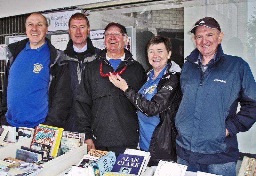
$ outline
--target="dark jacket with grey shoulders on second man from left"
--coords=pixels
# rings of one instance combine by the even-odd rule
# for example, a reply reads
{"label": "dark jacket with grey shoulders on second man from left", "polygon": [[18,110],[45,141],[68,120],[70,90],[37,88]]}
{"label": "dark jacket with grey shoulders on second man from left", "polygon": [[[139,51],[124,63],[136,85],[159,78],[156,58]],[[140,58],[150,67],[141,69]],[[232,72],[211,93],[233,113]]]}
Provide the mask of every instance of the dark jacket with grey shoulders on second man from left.
{"label": "dark jacket with grey shoulders on second man from left", "polygon": [[92,46],[92,41],[89,37],[86,39],[87,41],[87,52],[84,55],[84,60],[78,60],[76,56],[76,52],[73,48],[73,41],[70,39],[67,45],[67,49],[64,51],[66,54],[66,60],[68,62],[68,72],[70,76],[71,82],[71,90],[72,90],[72,107],[70,108],[68,119],[64,123],[64,128],[66,131],[77,132],[77,128],[75,125],[75,99],[78,91],[79,84],[81,82],[81,77],[84,69],[89,62],[95,60],[97,55],[100,54],[101,50]]}

